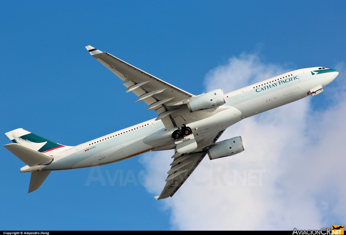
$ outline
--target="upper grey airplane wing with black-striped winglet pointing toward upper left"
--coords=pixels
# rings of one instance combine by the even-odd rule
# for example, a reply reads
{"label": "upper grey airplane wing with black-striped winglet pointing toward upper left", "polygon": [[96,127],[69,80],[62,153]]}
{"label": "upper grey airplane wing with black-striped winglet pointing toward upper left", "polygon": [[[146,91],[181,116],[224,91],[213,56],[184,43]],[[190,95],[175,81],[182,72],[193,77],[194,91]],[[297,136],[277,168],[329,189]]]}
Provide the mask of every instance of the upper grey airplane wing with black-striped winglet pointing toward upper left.
{"label": "upper grey airplane wing with black-striped winglet pointing toward upper left", "polygon": [[177,107],[169,107],[166,104],[181,103],[182,105],[182,101],[192,97],[192,94],[174,87],[107,52],[101,52],[92,46],[86,46],[86,49],[96,60],[124,81],[127,88],[126,93],[130,91],[135,93],[138,96],[136,102],[143,100],[149,106],[147,110],[154,109],[157,112],[158,119],[162,120],[167,130],[173,128],[174,125],[170,121],[169,115],[176,111]]}

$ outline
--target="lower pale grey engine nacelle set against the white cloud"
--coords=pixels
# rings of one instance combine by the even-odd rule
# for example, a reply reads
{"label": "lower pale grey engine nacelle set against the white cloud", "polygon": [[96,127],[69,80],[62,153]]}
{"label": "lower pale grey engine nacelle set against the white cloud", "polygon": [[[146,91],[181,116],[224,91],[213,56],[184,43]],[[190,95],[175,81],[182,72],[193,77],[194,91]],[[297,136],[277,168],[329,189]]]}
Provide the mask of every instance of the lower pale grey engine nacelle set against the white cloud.
{"label": "lower pale grey engine nacelle set against the white cloud", "polygon": [[210,148],[207,153],[209,159],[218,159],[220,157],[232,156],[245,150],[241,136],[220,141],[214,147]]}

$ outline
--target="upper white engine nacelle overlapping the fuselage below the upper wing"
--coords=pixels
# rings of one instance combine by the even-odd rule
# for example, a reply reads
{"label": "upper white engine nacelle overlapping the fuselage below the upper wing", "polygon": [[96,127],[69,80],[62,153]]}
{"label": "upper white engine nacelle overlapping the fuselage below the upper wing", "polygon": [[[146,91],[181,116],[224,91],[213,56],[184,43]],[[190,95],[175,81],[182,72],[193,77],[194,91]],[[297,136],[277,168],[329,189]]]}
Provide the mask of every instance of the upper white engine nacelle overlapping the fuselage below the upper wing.
{"label": "upper white engine nacelle overlapping the fuselage below the upper wing", "polygon": [[195,112],[203,109],[212,109],[226,103],[224,90],[217,89],[201,94],[194,100],[188,103],[190,112]]}

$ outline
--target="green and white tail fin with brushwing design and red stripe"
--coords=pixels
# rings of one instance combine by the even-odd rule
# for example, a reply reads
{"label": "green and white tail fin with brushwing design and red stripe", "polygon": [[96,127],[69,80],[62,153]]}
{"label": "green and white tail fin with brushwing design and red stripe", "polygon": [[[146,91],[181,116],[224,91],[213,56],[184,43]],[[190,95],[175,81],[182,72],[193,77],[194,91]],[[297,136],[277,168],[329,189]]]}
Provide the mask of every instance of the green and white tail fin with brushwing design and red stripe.
{"label": "green and white tail fin with brushwing design and red stripe", "polygon": [[40,153],[46,153],[64,147],[64,145],[57,144],[22,128],[11,130],[10,132],[5,133],[5,135],[7,135],[13,143],[20,144]]}

